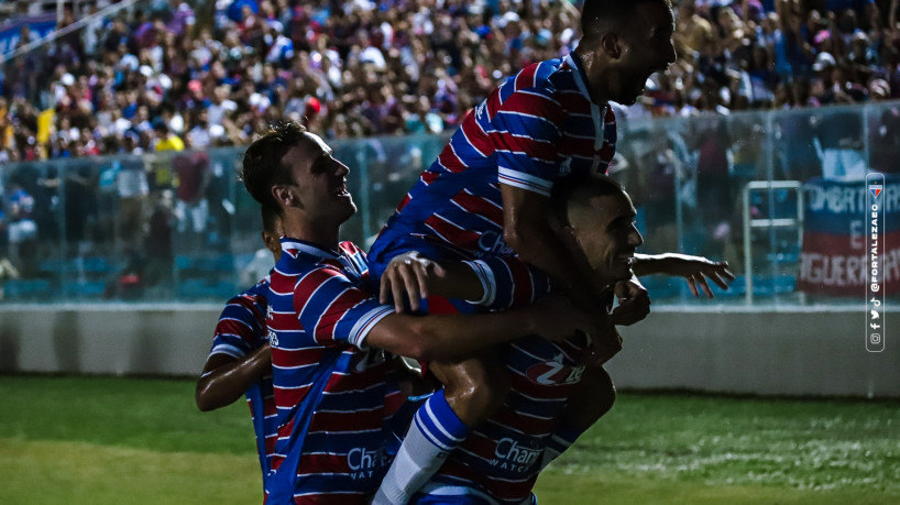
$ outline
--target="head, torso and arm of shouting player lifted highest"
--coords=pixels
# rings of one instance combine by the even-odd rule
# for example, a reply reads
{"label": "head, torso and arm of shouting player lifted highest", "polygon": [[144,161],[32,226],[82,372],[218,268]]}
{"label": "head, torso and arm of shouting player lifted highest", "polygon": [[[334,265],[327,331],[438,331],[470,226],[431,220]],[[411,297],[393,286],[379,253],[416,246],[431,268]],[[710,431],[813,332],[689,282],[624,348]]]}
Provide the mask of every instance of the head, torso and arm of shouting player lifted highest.
{"label": "head, torso and arm of shouting player lifted highest", "polygon": [[670,9],[668,0],[588,0],[573,53],[529,65],[463,119],[373,244],[374,273],[409,249],[436,260],[515,254],[592,305],[549,226],[550,191],[562,176],[605,173],[616,145],[608,102],[634,103],[674,62]]}

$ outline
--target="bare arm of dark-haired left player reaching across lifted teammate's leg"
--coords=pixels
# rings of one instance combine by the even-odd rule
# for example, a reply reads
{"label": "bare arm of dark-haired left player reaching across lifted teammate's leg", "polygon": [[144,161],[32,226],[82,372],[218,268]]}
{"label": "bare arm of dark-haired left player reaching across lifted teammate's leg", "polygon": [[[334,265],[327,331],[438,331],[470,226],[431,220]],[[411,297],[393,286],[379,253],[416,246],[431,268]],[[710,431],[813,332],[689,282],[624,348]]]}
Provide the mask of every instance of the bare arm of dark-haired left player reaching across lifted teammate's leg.
{"label": "bare arm of dark-haired left player reaching across lifted teammate's leg", "polygon": [[561,296],[529,307],[483,315],[407,316],[392,314],[375,325],[366,343],[422,361],[454,361],[498,343],[538,334],[562,340],[577,331],[591,334],[592,318]]}

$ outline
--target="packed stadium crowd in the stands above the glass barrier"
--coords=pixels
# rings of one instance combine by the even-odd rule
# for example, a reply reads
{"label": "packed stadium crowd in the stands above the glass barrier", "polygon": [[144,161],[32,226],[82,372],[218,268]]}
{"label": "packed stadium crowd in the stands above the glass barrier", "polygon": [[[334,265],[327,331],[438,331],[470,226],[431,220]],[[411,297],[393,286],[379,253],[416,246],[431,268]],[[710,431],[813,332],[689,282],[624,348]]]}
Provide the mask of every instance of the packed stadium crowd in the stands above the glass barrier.
{"label": "packed stadium crowd in the stands above the glass barrier", "polygon": [[[898,3],[676,2],[678,62],[629,114],[898,98]],[[331,139],[439,133],[579,37],[567,0],[138,6],[4,64],[0,163],[242,145],[282,118]]]}

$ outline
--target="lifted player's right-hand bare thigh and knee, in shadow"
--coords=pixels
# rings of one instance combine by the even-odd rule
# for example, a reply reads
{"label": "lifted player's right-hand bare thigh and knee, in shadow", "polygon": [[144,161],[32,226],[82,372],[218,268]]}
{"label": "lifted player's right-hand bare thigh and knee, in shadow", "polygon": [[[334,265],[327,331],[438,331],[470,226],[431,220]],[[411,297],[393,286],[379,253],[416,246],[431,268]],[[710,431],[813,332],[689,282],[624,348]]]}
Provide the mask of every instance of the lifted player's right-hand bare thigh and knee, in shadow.
{"label": "lifted player's right-hand bare thigh and knee, in shadow", "polygon": [[613,408],[616,388],[610,374],[601,366],[589,366],[578,388],[569,397],[556,429],[544,449],[540,468],[544,470],[564,452],[603,415]]}

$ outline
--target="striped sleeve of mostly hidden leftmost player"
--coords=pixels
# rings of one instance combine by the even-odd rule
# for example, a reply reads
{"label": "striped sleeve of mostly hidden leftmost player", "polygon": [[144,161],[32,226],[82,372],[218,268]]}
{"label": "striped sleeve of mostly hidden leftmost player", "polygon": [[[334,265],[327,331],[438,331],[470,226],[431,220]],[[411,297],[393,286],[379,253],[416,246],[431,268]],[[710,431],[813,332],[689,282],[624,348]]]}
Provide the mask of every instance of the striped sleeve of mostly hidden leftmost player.
{"label": "striped sleeve of mostly hidden leftmost player", "polygon": [[209,355],[228,354],[241,359],[262,345],[267,337],[263,305],[259,296],[250,294],[228,300],[216,323]]}

